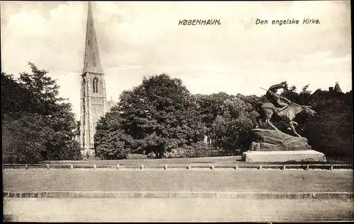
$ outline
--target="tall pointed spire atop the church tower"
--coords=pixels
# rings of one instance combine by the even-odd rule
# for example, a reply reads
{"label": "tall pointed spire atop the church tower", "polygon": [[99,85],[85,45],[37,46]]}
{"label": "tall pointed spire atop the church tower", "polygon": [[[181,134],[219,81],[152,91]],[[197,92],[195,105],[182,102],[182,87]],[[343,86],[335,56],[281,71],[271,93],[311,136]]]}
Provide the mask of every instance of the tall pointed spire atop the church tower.
{"label": "tall pointed spire atop the church tower", "polygon": [[91,8],[90,1],[89,1],[89,9],[87,12],[85,57],[84,57],[84,69],[82,69],[82,74],[86,72],[103,73],[100,54],[98,52],[96,30],[95,30],[95,24],[93,23],[92,8]]}

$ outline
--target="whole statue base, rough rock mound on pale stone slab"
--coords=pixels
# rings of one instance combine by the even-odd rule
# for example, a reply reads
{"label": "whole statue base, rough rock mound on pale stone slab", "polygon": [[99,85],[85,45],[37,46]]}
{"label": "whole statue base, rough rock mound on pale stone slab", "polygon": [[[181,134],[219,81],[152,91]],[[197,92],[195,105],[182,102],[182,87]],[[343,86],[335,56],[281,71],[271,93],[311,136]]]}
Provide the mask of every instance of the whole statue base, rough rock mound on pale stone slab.
{"label": "whole statue base, rough rock mound on pale stone slab", "polygon": [[324,153],[311,149],[307,138],[290,136],[282,131],[253,129],[249,146],[241,160],[255,162],[326,162]]}

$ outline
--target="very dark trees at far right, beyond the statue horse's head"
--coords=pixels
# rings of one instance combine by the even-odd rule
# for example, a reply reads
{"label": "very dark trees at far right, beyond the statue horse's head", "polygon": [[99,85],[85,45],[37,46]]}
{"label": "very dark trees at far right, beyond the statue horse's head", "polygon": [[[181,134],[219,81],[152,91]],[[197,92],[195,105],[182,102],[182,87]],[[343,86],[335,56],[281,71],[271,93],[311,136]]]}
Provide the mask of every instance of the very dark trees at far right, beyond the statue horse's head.
{"label": "very dark trees at far right, beyond the statue horse's head", "polygon": [[351,93],[316,90],[309,103],[317,112],[304,124],[302,135],[317,151],[350,158],[353,153],[352,109],[347,99]]}

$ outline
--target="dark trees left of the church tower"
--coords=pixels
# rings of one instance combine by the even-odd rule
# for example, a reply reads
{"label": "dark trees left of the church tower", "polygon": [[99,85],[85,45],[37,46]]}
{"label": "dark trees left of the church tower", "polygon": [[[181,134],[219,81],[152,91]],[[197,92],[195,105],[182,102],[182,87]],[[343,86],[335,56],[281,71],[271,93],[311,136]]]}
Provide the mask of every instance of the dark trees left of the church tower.
{"label": "dark trees left of the church tower", "polygon": [[47,71],[29,65],[17,80],[1,72],[3,163],[81,159],[72,106]]}

